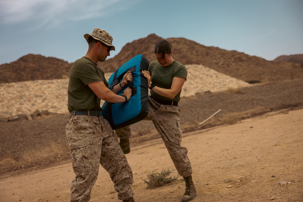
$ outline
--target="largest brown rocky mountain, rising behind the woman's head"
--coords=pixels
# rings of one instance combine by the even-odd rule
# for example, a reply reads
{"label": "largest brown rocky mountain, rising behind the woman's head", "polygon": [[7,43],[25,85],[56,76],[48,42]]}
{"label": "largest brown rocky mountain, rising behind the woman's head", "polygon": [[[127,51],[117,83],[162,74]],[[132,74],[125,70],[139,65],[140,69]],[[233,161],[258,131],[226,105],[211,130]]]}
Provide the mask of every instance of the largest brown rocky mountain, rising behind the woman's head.
{"label": "largest brown rocky mountain, rising behind the woman's head", "polygon": [[[132,57],[143,54],[155,60],[155,43],[163,39],[155,34],[126,44],[114,58],[98,64],[108,72],[115,71]],[[182,64],[201,64],[243,81],[272,83],[303,78],[303,65],[291,62],[273,62],[238,51],[209,47],[186,38],[167,38],[172,45],[173,58]]]}

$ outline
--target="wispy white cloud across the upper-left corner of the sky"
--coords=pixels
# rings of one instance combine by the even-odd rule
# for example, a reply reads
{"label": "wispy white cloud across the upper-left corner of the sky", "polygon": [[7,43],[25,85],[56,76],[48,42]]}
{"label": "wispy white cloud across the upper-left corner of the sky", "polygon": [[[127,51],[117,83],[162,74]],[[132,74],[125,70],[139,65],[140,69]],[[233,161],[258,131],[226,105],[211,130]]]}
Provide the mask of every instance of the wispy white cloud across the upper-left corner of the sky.
{"label": "wispy white cloud across the upper-left corner of the sky", "polygon": [[[126,9],[123,0],[1,0],[0,23],[39,22],[57,24],[111,14],[113,9]],[[115,5],[119,5],[116,7]]]}

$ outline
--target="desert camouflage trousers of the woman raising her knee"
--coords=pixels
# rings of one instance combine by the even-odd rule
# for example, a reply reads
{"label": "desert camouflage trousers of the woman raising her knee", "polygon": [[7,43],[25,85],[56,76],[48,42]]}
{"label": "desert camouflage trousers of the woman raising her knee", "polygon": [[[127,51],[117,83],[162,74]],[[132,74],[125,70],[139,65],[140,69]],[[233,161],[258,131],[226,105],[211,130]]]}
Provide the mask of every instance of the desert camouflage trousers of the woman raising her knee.
{"label": "desert camouflage trousers of the woman raising her knee", "polygon": [[[167,151],[173,161],[176,170],[182,177],[192,174],[191,163],[187,156],[187,148],[181,146],[182,132],[180,128],[180,108],[159,104],[152,98],[148,98],[148,115],[144,120],[152,121],[161,135]],[[121,139],[131,136],[130,126],[116,130],[116,134]]]}

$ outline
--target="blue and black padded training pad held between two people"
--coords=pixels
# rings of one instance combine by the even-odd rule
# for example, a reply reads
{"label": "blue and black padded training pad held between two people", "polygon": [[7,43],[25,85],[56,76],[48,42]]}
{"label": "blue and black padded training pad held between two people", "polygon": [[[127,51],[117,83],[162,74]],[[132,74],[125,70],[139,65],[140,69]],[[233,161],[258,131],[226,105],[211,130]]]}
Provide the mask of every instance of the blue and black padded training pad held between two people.
{"label": "blue and black padded training pad held between two people", "polygon": [[[144,119],[148,114],[148,83],[142,70],[148,70],[149,61],[144,55],[137,55],[119,67],[108,79],[112,86],[122,81],[126,72],[131,71],[133,82],[126,87],[132,88],[132,97],[125,104],[105,101],[102,105],[101,115],[109,122],[112,129],[118,129]],[[124,89],[118,94],[122,95]]]}

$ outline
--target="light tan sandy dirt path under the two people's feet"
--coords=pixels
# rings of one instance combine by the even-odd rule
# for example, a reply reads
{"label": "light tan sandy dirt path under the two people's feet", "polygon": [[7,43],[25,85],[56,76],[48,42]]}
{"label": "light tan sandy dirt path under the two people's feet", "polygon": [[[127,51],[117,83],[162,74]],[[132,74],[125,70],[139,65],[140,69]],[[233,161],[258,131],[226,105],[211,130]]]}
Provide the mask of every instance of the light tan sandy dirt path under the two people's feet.
{"label": "light tan sandy dirt path under the two people's feet", "polygon": [[[303,201],[303,110],[265,114],[241,123],[195,131],[182,140],[202,201]],[[162,141],[132,148],[135,201],[181,201],[181,180],[146,189],[152,171],[175,167]],[[176,171],[172,174],[177,175]],[[75,174],[71,163],[0,180],[1,202],[69,201]],[[181,179],[181,177],[179,177]],[[100,168],[91,201],[119,201],[108,174]]]}

